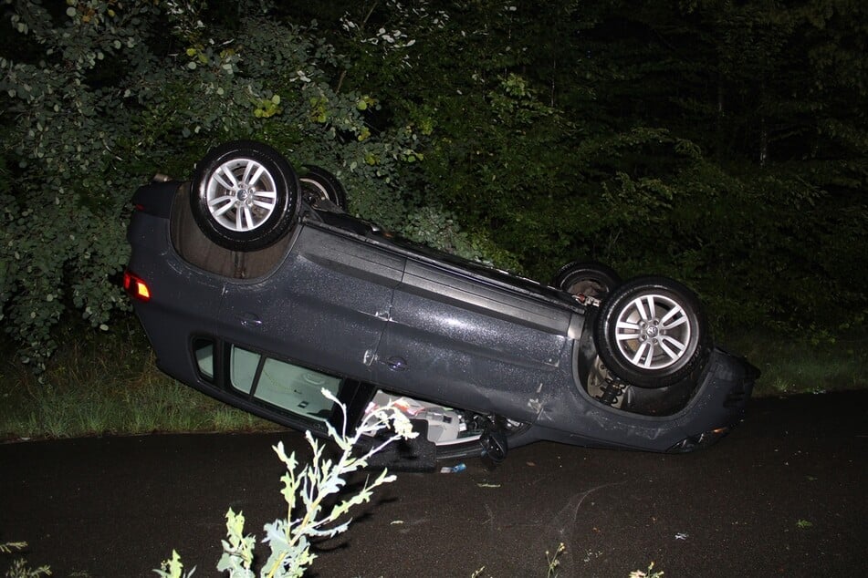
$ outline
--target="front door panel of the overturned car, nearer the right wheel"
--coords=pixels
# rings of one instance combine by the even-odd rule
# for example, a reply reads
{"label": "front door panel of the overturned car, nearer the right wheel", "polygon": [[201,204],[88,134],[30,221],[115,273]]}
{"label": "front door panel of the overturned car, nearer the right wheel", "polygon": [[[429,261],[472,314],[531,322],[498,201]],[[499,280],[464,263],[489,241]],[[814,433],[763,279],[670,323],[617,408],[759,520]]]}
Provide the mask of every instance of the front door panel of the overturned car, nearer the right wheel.
{"label": "front door panel of the overturned car, nearer the right wheel", "polygon": [[531,420],[540,407],[533,400],[562,381],[570,320],[532,295],[408,258],[377,378],[446,405]]}

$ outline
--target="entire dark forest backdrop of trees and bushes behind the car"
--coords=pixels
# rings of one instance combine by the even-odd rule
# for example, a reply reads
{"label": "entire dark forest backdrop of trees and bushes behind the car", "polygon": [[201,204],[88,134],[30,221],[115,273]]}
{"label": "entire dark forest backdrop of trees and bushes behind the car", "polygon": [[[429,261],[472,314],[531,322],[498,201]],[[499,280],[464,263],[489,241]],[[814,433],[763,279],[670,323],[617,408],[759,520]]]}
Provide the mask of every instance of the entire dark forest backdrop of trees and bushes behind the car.
{"label": "entire dark forest backdrop of trees and bushes behind the car", "polygon": [[718,332],[831,342],[868,311],[858,0],[0,5],[0,319],[128,315],[129,200],[254,138],[350,210],[549,280],[666,274]]}

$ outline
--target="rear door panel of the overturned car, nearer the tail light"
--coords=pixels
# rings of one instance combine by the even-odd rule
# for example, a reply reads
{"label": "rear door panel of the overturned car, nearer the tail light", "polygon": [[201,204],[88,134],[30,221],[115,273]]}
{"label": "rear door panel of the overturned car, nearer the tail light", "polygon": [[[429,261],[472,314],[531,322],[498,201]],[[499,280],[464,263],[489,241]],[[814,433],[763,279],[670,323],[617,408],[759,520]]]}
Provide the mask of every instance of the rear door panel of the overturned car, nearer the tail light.
{"label": "rear door panel of the overturned car, nearer the tail light", "polygon": [[402,274],[402,257],[361,235],[302,224],[274,272],[226,281],[220,333],[246,349],[367,381]]}

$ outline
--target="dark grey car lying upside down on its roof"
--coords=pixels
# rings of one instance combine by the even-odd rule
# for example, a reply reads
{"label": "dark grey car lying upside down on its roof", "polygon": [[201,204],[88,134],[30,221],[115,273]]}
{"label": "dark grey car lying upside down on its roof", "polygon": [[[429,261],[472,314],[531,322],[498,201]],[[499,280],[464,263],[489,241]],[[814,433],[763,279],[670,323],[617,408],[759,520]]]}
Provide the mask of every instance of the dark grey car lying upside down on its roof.
{"label": "dark grey car lying upside down on its roof", "polygon": [[355,423],[398,399],[424,434],[408,451],[438,459],[683,452],[743,417],[758,371],[682,284],[598,263],[539,284],[395,239],[328,171],[299,173],[235,141],[136,191],[124,285],[170,376],[319,435],[342,418],[323,388]]}

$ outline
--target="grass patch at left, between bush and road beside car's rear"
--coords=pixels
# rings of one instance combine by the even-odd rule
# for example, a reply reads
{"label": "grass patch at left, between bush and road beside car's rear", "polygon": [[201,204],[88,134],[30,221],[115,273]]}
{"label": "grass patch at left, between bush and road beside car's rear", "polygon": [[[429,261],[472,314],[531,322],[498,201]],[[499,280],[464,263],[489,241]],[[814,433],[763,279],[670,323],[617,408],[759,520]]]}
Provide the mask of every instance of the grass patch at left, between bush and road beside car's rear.
{"label": "grass patch at left, between bush and road beside car's rear", "polygon": [[0,439],[279,429],[163,375],[138,325],[65,337],[39,377],[5,347]]}

